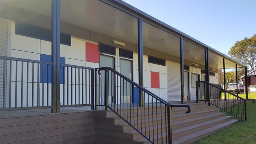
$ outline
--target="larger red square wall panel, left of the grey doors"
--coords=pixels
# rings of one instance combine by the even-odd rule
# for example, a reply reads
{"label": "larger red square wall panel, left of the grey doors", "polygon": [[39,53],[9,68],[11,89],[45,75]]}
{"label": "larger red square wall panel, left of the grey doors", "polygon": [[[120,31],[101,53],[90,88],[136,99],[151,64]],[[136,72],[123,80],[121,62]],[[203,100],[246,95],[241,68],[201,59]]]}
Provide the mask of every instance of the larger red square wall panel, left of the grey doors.
{"label": "larger red square wall panel, left of the grey doors", "polygon": [[85,42],[85,61],[99,63],[98,44]]}

